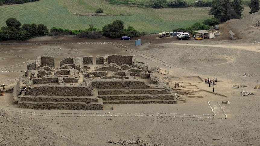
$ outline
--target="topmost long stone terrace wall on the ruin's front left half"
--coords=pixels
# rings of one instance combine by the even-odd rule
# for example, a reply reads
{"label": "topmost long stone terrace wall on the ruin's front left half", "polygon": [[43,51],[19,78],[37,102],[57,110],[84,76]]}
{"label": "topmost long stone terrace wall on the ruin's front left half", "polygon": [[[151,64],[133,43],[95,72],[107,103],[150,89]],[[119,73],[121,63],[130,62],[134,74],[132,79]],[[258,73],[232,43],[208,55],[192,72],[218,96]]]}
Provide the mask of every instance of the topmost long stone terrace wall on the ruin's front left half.
{"label": "topmost long stone terrace wall on the ruin's front left half", "polygon": [[47,85],[47,86],[37,86],[30,89],[27,92],[27,95],[93,96],[93,90],[86,86]]}

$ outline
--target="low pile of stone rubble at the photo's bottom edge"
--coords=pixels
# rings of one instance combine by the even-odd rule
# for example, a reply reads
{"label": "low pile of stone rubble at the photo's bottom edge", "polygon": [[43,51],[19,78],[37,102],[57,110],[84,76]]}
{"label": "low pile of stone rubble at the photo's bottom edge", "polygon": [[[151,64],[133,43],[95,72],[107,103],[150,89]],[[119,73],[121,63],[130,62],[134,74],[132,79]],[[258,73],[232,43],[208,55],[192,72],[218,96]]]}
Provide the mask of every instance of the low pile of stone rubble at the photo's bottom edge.
{"label": "low pile of stone rubble at the photo's bottom edge", "polygon": [[[125,140],[125,139],[120,139],[119,141],[108,141],[108,143],[113,143],[113,144],[122,144],[122,145],[130,145],[130,144],[136,144],[137,146],[151,146],[144,140],[138,139],[138,140]],[[165,146],[164,144],[161,143],[156,143],[153,146]]]}

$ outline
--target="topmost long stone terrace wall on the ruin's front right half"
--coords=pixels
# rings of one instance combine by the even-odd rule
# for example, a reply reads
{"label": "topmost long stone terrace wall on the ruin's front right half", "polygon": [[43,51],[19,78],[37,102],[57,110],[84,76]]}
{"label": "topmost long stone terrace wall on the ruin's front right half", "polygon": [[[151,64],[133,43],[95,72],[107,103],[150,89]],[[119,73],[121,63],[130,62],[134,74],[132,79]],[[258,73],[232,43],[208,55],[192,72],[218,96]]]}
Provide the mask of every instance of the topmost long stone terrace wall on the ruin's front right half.
{"label": "topmost long stone terrace wall on the ruin's front right half", "polygon": [[145,82],[129,79],[97,79],[91,82],[97,89],[149,89]]}

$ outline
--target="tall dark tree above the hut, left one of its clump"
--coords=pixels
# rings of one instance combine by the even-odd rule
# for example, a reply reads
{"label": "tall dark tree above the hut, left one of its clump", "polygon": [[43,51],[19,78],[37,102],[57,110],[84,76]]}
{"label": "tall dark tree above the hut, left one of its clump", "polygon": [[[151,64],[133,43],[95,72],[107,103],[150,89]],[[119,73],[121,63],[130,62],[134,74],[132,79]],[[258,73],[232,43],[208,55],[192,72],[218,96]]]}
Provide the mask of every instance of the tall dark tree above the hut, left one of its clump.
{"label": "tall dark tree above the hut, left one of its clump", "polygon": [[232,18],[231,10],[232,7],[229,0],[213,0],[209,15],[213,15],[214,18],[217,18],[222,23]]}

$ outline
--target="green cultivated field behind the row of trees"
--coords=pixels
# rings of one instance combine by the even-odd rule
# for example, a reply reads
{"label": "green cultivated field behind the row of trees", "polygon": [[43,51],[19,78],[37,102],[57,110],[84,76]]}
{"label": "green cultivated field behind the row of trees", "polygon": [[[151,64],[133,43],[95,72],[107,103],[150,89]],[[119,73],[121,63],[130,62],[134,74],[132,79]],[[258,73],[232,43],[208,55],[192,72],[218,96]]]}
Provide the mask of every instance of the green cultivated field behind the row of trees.
{"label": "green cultivated field behind the row of trees", "polygon": [[[143,0],[142,0],[143,1]],[[102,8],[109,16],[90,16]],[[249,10],[250,11],[250,10]],[[63,29],[79,30],[93,24],[99,28],[114,20],[122,20],[127,26],[147,33],[171,31],[179,27],[189,27],[212,16],[202,8],[137,8],[124,5],[111,5],[103,0],[43,0],[33,3],[0,6],[0,27],[5,20],[14,17],[22,24],[43,23]],[[81,14],[84,16],[78,16]],[[127,14],[127,15],[123,15]],[[86,15],[86,16],[85,16]]]}

